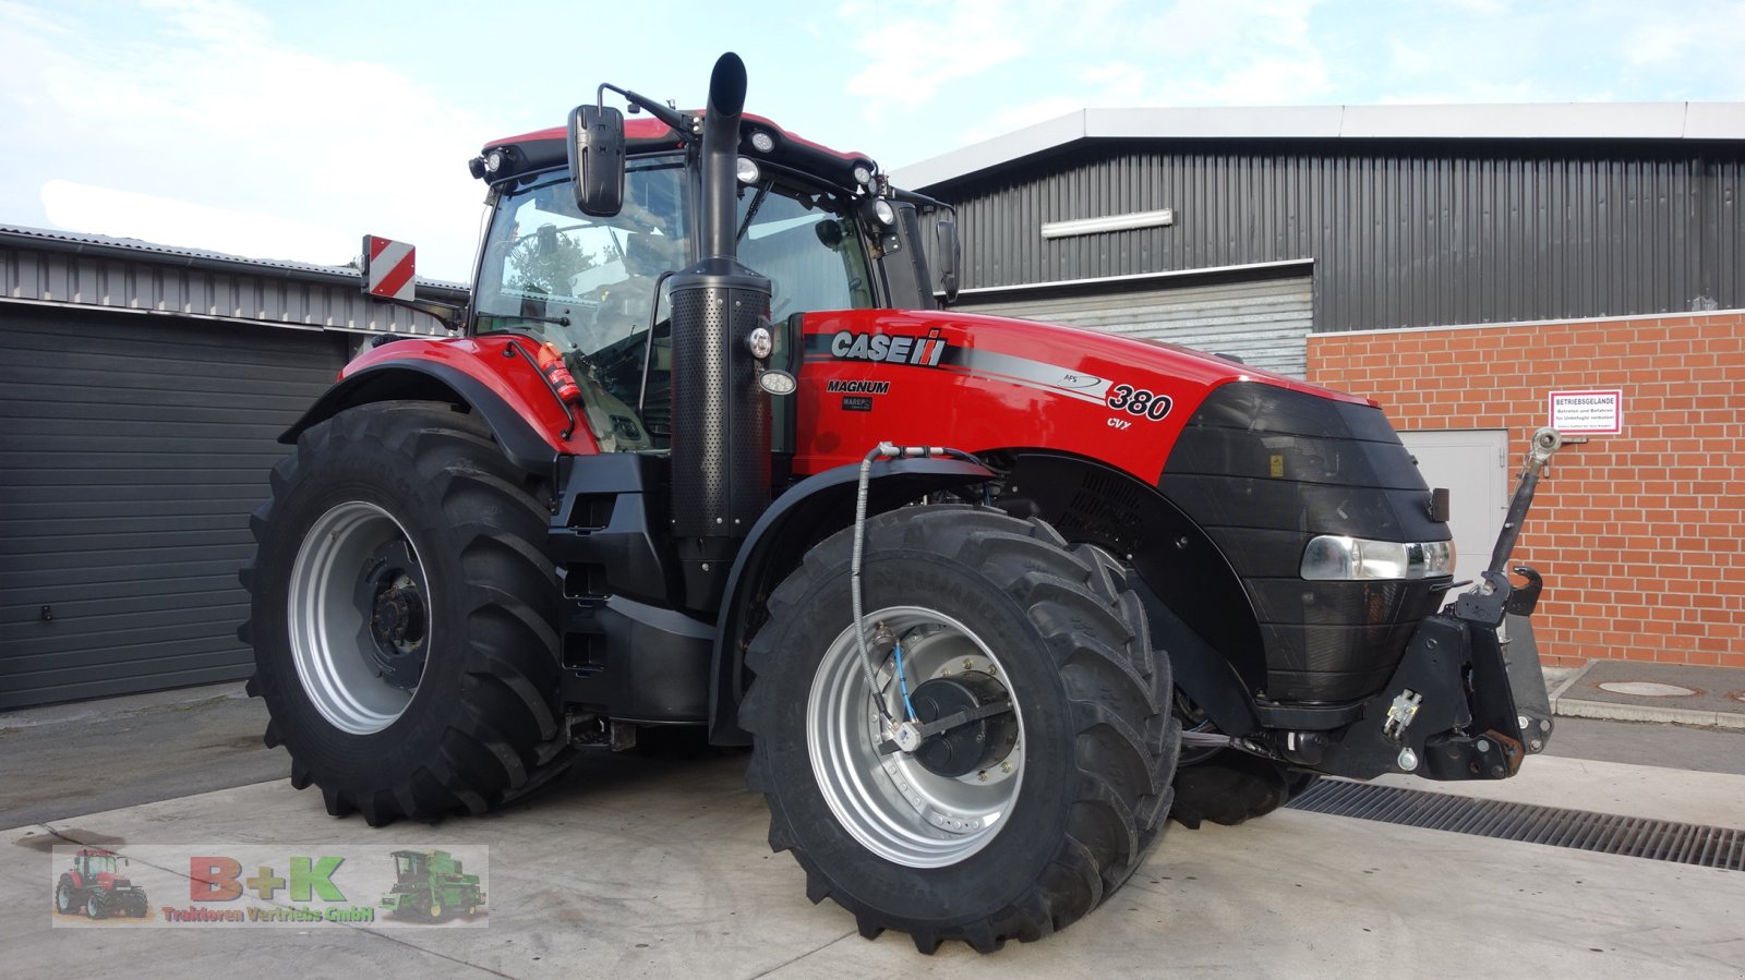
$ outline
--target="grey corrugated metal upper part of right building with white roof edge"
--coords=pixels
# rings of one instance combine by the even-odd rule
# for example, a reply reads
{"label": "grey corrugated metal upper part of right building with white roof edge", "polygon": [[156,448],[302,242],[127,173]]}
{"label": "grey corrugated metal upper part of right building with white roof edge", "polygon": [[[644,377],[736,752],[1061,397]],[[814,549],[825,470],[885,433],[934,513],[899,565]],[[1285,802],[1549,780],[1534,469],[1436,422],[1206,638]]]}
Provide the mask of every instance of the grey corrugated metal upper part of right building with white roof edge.
{"label": "grey corrugated metal upper part of right building with white roof edge", "polygon": [[1745,307],[1745,105],[1084,110],[906,167],[965,309],[1304,371],[1309,331]]}

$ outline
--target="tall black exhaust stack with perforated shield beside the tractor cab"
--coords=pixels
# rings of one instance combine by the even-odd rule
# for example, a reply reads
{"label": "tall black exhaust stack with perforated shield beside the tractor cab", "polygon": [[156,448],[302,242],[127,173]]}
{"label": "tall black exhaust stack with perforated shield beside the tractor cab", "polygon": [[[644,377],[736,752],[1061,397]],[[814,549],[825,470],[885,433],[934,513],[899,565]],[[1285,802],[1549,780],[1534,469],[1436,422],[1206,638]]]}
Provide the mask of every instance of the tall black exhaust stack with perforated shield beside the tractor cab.
{"label": "tall black exhaust stack with perforated shield beside the tractor cab", "polygon": [[770,399],[747,345],[770,279],[740,265],[745,63],[722,54],[703,113],[700,260],[672,282],[672,527],[686,605],[715,609],[740,541],[770,506]]}

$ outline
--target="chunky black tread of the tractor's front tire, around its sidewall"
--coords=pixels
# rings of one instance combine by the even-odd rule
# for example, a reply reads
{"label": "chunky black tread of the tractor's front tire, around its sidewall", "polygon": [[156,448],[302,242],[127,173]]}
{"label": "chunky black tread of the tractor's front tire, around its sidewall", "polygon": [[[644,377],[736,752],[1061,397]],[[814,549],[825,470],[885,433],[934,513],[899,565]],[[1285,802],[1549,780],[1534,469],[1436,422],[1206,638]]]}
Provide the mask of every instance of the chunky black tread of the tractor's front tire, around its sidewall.
{"label": "chunky black tread of the tractor's front tire, around its sidewall", "polygon": [[[902,929],[923,954],[944,940],[993,952],[1005,940],[1035,942],[1066,928],[1133,875],[1167,825],[1180,725],[1169,708],[1169,663],[1150,647],[1143,603],[1101,549],[1068,546],[1045,521],[989,507],[928,506],[881,514],[867,521],[866,546],[869,555],[923,549],[944,556],[981,572],[1026,610],[1066,691],[1075,692],[1070,711],[1078,732],[1077,802],[1059,851],[1037,882],[1009,905],[949,926],[886,914],[831,888],[817,860],[784,823],[775,806],[777,776],[768,771],[764,753],[754,752],[749,783],[771,797],[771,849],[792,851],[806,870],[808,898],[834,898],[855,915],[860,935]],[[770,624],[792,616],[822,575],[845,567],[850,549],[850,532],[811,549],[771,593]],[[778,630],[770,624],[747,652],[747,668],[756,673],[782,670]],[[775,727],[778,706],[766,689],[754,682],[740,708],[742,724],[754,736]]]}

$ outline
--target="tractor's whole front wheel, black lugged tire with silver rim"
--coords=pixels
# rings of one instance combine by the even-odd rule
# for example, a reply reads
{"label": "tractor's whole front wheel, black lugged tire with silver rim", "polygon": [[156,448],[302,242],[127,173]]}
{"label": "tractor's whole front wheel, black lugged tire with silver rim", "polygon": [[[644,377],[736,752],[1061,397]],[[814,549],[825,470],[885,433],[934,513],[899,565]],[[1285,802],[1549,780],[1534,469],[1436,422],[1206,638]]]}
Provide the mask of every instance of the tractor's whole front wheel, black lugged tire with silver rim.
{"label": "tractor's whole front wheel, black lugged tire with silver rim", "polygon": [[[866,936],[907,931],[921,952],[951,938],[991,952],[1077,921],[1157,840],[1180,750],[1169,664],[1119,565],[993,509],[869,520],[866,623],[907,645],[916,717],[1014,704],[951,752],[909,755],[879,746],[850,553],[845,530],[806,555],[747,654],[742,718],[771,847],[792,849],[813,902],[834,898]],[[900,711],[893,663],[876,684]]]}

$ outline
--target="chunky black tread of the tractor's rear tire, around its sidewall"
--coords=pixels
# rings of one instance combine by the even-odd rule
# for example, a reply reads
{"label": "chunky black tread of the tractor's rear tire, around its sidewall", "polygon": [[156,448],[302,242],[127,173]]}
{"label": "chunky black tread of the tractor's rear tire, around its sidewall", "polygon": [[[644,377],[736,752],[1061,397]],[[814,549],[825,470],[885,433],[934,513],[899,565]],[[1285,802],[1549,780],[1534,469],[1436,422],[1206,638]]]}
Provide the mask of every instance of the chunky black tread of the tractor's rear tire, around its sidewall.
{"label": "chunky black tread of the tractor's rear tire, around its sidewall", "polygon": [[[263,741],[286,746],[291,785],[319,786],[333,816],[361,811],[380,827],[396,818],[483,813],[548,783],[571,762],[557,704],[557,586],[543,551],[544,507],[530,492],[529,474],[503,455],[478,417],[438,403],[375,403],[311,427],[297,450],[272,467],[272,497],[250,516],[257,549],[276,534],[279,502],[319,478],[325,459],[356,446],[403,457],[436,492],[448,527],[445,544],[455,549],[464,574],[455,593],[469,633],[462,696],[429,708],[441,713],[440,752],[408,772],[377,774],[373,781],[323,767],[319,755],[298,743],[295,727],[277,718],[269,722]],[[241,581],[255,607],[283,602],[262,595],[265,579],[258,558],[244,565]],[[263,640],[253,616],[239,635]],[[263,696],[277,713],[286,710],[286,684],[295,685],[295,675],[269,677],[257,654],[248,692]]]}

